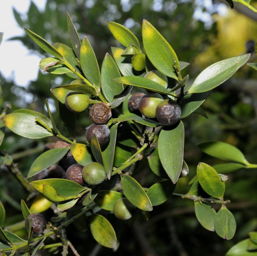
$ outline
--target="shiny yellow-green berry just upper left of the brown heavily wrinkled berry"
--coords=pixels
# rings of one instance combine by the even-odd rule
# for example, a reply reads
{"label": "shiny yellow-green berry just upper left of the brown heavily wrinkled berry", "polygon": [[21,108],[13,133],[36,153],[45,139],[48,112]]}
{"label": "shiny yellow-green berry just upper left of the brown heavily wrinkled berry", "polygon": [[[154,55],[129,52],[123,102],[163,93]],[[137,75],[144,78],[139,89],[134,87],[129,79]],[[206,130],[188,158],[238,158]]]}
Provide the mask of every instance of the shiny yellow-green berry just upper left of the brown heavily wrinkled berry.
{"label": "shiny yellow-green berry just upper left of the brown heavily wrinkled berry", "polygon": [[86,94],[69,91],[65,97],[65,105],[75,113],[86,110],[89,105],[89,97]]}

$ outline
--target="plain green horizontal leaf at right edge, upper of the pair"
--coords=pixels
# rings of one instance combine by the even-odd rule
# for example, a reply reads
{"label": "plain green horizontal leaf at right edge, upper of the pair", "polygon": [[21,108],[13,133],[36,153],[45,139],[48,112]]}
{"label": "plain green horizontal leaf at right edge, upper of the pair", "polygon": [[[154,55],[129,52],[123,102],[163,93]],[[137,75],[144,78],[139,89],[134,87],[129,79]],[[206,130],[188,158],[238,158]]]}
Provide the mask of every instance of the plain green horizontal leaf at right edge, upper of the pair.
{"label": "plain green horizontal leaf at right edge, upper of the pair", "polygon": [[249,165],[244,154],[235,146],[221,141],[207,141],[197,145],[204,153],[216,158]]}

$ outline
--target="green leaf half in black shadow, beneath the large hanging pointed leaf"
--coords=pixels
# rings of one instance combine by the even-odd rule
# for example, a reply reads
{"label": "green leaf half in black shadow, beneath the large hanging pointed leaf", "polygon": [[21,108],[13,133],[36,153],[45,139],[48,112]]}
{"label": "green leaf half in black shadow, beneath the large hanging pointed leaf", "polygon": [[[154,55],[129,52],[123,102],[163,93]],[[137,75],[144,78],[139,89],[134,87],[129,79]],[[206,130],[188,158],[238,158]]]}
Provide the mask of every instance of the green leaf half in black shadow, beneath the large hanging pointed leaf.
{"label": "green leaf half in black shadow, beneath the large hanging pointed leaf", "polygon": [[152,206],[160,205],[167,201],[176,188],[170,180],[164,180],[155,183],[147,191],[146,195],[150,199]]}

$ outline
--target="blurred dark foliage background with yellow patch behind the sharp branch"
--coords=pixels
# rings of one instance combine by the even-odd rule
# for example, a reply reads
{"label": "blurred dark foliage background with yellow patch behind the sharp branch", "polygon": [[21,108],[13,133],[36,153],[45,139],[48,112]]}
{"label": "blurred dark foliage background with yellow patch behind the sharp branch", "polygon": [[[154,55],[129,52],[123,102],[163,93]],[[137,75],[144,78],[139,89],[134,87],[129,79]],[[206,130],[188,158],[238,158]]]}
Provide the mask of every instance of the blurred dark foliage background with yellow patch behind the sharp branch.
{"label": "blurred dark foliage background with yellow patch behind the sharp branch", "polygon": [[[66,22],[68,11],[80,38],[84,35],[89,38],[100,66],[105,53],[111,52],[110,47],[119,46],[111,36],[106,21],[127,26],[142,41],[141,23],[145,18],[170,42],[179,60],[190,63],[183,70],[184,76],[190,75],[189,85],[205,67],[222,59],[251,52],[251,62],[256,61],[254,48],[246,47],[247,42],[251,46],[257,39],[256,18],[249,17],[247,8],[240,9],[239,13],[229,9],[228,5],[226,15],[221,16],[220,4],[199,0],[48,0],[43,12],[33,2],[26,14],[16,9],[13,11],[19,26],[29,28],[51,44],[61,42],[69,46]],[[222,7],[225,8],[224,4]],[[20,40],[31,51],[47,56],[25,32],[24,36],[10,40]],[[202,107],[208,119],[197,114],[185,119],[185,161],[190,172],[185,178],[179,179],[176,193],[188,192],[188,182],[196,174],[198,162],[209,165],[222,162],[202,153],[197,143],[217,140],[233,144],[250,162],[256,163],[256,78],[257,72],[245,65],[231,79],[213,90],[204,102]],[[71,78],[39,71],[38,79],[27,88],[5,80],[1,71],[0,79],[3,108],[9,103],[12,106],[9,112],[17,108],[29,108],[47,115],[45,98],[52,98],[49,102],[57,127],[64,129],[58,111],[54,111],[55,107],[58,109],[58,104],[50,88],[70,83]],[[86,116],[83,113],[77,116],[77,135],[81,142],[85,141],[85,128],[90,124]],[[67,135],[65,131],[61,132]],[[44,144],[50,141],[55,141],[55,138],[33,141],[18,137],[6,129],[1,154],[13,156],[14,162],[27,176],[30,165],[42,152]],[[147,160],[139,163],[138,170],[140,172],[136,179],[144,186],[147,187],[156,179]],[[237,221],[236,235],[230,241],[224,241],[202,228],[195,217],[193,201],[175,196],[155,207],[148,222],[136,222],[133,226],[124,224],[120,247],[116,253],[98,246],[90,232],[79,231],[81,225],[67,228],[68,239],[81,255],[225,255],[232,245],[247,238],[248,232],[257,229],[256,174],[256,170],[246,169],[228,174],[225,200],[231,200],[228,208]],[[0,171],[0,177],[1,201],[7,210],[4,226],[9,226],[22,220],[20,199],[26,199],[27,194],[6,168]],[[15,232],[19,236],[26,234],[22,229]],[[47,252],[43,255],[47,255]]]}

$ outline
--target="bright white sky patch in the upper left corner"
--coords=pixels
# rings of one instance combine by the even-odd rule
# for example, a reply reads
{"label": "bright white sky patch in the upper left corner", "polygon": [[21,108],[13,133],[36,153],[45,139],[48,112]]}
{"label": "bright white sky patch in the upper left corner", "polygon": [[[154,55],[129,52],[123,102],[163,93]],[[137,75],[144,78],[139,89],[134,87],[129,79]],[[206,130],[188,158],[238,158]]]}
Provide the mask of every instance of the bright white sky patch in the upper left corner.
{"label": "bright white sky patch in the upper left corner", "polygon": [[[46,0],[33,2],[43,10]],[[26,86],[30,80],[37,78],[40,62],[40,57],[31,54],[20,41],[8,41],[11,37],[24,35],[24,30],[16,23],[12,8],[24,14],[29,5],[30,0],[1,0],[0,3],[0,32],[4,32],[0,46],[0,72],[6,79],[14,77],[20,86]]]}

